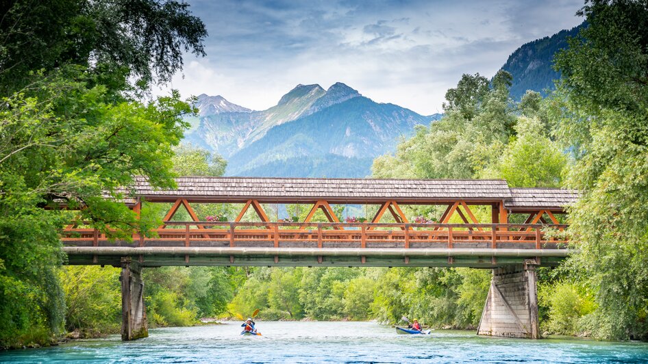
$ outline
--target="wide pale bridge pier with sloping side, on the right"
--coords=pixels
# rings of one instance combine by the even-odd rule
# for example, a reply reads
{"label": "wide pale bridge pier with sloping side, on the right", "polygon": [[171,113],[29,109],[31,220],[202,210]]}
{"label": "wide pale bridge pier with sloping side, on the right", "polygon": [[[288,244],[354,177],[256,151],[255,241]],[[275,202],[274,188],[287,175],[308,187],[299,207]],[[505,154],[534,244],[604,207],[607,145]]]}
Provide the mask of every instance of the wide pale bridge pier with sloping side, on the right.
{"label": "wide pale bridge pier with sloping side, on the right", "polygon": [[539,339],[535,259],[493,269],[477,335]]}

